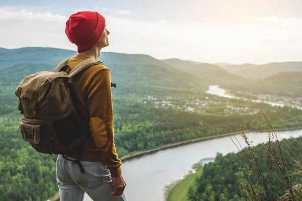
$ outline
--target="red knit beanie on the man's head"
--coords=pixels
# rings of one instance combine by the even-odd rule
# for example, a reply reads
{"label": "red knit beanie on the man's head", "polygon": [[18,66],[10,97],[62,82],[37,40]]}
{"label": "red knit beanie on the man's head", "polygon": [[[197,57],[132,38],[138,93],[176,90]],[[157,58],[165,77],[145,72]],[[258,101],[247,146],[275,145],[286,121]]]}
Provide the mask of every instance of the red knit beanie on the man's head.
{"label": "red knit beanie on the man's head", "polygon": [[98,12],[83,11],[72,14],[66,22],[65,33],[78,52],[92,48],[101,39],[105,29],[105,18]]}

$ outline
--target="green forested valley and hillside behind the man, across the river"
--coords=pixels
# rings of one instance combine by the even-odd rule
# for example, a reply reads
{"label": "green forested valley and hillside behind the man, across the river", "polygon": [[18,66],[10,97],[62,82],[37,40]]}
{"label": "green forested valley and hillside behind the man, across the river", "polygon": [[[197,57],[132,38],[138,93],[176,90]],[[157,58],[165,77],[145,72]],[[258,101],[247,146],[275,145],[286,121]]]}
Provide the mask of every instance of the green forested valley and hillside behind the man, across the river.
{"label": "green forested valley and hillside behind the man, across the river", "polygon": [[[50,53],[54,54],[53,50]],[[55,155],[38,153],[21,139],[18,125],[22,116],[14,91],[23,77],[40,70],[51,71],[55,62],[29,59],[28,49],[22,54],[28,59],[20,57],[21,63],[0,68],[0,200],[46,200],[58,191]],[[206,94],[202,80],[147,55],[107,53],[103,59],[112,67],[112,82],[117,84],[112,93],[119,157],[240,132],[240,125],[246,121],[249,130],[267,129],[260,109],[276,129],[302,127],[302,111],[298,109]]]}

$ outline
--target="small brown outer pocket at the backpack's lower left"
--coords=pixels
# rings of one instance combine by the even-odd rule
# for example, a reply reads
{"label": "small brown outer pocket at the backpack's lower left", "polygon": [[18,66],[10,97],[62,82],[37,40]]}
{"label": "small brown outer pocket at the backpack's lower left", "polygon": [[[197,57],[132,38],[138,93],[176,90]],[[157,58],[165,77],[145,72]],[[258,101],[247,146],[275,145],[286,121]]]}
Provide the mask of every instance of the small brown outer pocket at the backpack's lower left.
{"label": "small brown outer pocket at the backpack's lower left", "polygon": [[31,144],[40,143],[40,125],[19,123],[19,129],[23,140],[30,142]]}

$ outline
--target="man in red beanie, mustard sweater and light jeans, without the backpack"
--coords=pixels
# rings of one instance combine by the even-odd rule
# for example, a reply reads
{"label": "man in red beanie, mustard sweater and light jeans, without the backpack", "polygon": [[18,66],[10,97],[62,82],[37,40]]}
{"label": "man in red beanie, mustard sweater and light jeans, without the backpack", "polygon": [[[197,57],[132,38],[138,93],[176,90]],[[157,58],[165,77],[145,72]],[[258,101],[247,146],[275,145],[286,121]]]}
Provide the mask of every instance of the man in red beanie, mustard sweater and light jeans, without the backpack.
{"label": "man in red beanie, mustard sweater and light jeans, without the backpack", "polygon": [[[79,54],[67,65],[74,68],[85,59],[100,56],[109,45],[105,19],[97,12],[78,12],[66,22],[65,33],[78,46]],[[89,121],[90,134],[84,146],[57,158],[56,178],[60,200],[82,200],[86,192],[93,200],[127,200],[123,193],[126,182],[121,173],[113,135],[113,108],[110,70],[97,64],[69,80],[77,98],[78,113]],[[80,166],[72,160],[78,159]]]}

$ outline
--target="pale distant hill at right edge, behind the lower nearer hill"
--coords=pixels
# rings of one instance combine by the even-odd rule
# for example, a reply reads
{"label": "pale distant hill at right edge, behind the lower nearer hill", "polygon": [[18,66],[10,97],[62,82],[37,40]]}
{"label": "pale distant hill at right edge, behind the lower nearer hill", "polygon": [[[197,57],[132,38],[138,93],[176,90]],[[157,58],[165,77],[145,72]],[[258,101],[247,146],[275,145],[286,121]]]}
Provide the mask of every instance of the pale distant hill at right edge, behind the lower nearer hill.
{"label": "pale distant hill at right edge, behind the lower nearer hill", "polygon": [[283,62],[283,63],[269,63],[269,64],[258,65],[258,66],[251,65],[250,68],[237,71],[236,74],[250,79],[263,79],[278,74],[280,72],[301,72],[301,71],[302,71],[302,62]]}

